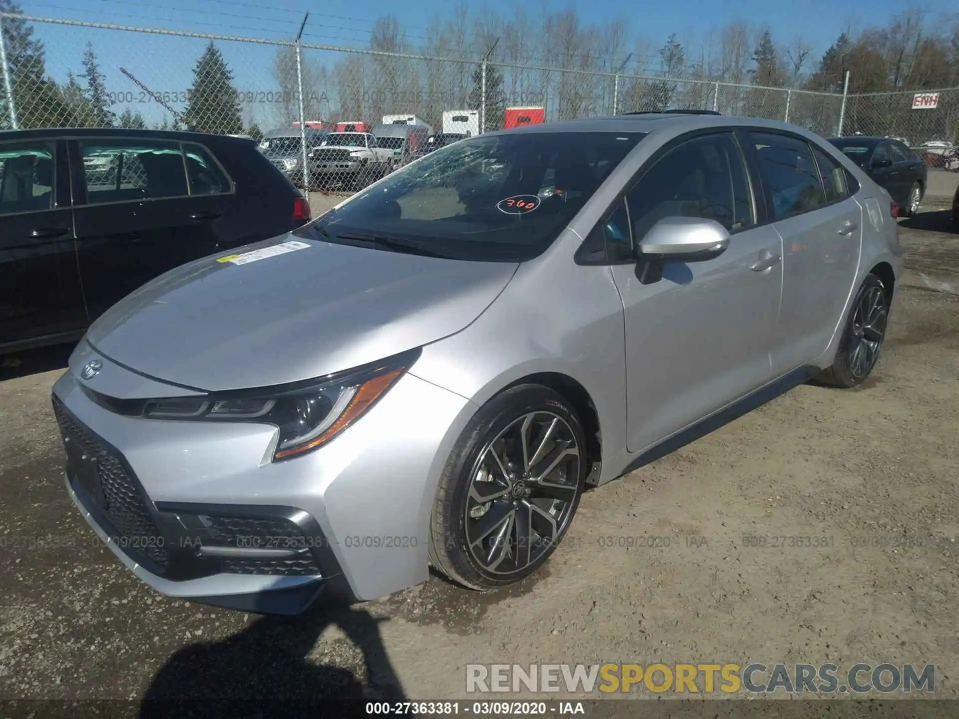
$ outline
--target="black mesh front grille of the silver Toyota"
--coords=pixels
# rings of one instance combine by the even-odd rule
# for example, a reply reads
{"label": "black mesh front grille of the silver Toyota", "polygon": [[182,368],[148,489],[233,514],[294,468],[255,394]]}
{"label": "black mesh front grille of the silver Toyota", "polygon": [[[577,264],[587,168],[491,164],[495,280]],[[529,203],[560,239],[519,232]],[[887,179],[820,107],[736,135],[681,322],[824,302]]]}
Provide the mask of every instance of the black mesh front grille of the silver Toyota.
{"label": "black mesh front grille of the silver Toyota", "polygon": [[147,559],[165,569],[169,555],[164,538],[153,523],[136,480],[129,476],[120,458],[106,448],[93,432],[74,419],[56,396],[53,405],[60,432],[97,460],[106,503],[105,506],[97,505],[95,509],[109,523],[109,526],[103,527],[105,532],[134,561]]}

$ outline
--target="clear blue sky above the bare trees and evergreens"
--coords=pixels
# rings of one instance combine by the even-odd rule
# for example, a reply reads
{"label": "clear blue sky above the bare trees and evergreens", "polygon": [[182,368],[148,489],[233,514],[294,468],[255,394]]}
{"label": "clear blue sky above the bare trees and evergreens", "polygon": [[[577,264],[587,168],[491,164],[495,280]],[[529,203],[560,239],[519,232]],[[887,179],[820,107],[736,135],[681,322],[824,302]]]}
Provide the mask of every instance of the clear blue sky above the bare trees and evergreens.
{"label": "clear blue sky above the bare trees and evergreens", "polygon": [[[381,0],[357,2],[354,0],[50,0],[34,2],[21,0],[25,14],[52,18],[67,18],[89,23],[105,23],[169,30],[239,35],[292,40],[303,14],[310,12],[304,31],[306,42],[363,47],[369,42],[374,20],[393,13],[406,28],[409,40],[418,43],[425,38],[427,26],[434,14],[444,14],[452,8],[448,0]],[[732,20],[746,20],[754,25],[766,25],[773,38],[787,42],[802,35],[812,45],[812,57],[820,58],[835,38],[847,27],[862,28],[870,24],[885,24],[888,19],[905,10],[903,2],[894,0],[806,0],[803,3],[784,3],[775,0],[739,0],[735,5],[717,0],[671,0],[640,5],[635,0],[568,0],[549,2],[550,10],[572,8],[584,20],[600,22],[605,18],[628,16],[634,35],[647,38],[652,47],[659,47],[668,35],[676,33],[689,51],[698,50],[702,38],[712,28],[718,29]],[[471,6],[481,11],[482,5]],[[503,12],[508,6],[489,6]],[[538,3],[530,10],[538,9]],[[944,9],[932,6],[931,12]],[[106,76],[107,92],[118,100],[139,109],[153,122],[165,111],[152,101],[141,101],[140,89],[120,72],[125,67],[145,82],[154,92],[182,94],[192,81],[192,69],[205,41],[199,38],[170,35],[146,35],[94,28],[77,28],[37,23],[35,36],[44,40],[47,48],[47,71],[56,80],[63,81],[68,70],[79,73],[81,58],[87,41],[93,43]],[[236,76],[236,85],[269,91],[275,85],[270,66],[275,47],[241,42],[220,42],[222,53]],[[310,51],[316,62],[333,62],[341,53]],[[648,61],[648,60],[647,60]],[[274,102],[276,101],[274,96]],[[132,104],[129,101],[132,100]],[[173,103],[175,107],[182,106]],[[247,122],[255,120],[261,126],[270,125],[276,108],[269,98],[260,99],[245,110]]]}

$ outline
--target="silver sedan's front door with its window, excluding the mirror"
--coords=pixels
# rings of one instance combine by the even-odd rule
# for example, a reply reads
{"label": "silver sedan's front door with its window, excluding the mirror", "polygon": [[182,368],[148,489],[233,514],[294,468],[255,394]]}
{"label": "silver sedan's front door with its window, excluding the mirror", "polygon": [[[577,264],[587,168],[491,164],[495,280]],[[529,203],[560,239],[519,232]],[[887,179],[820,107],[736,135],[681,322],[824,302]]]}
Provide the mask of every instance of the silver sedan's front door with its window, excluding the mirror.
{"label": "silver sedan's front door with its window, excluding the mirror", "polygon": [[700,135],[653,161],[626,195],[633,243],[667,217],[716,220],[729,248],[703,262],[667,262],[643,285],[612,267],[625,312],[627,447],[641,452],[770,379],[782,289],[782,247],[756,225],[742,153],[731,132]]}

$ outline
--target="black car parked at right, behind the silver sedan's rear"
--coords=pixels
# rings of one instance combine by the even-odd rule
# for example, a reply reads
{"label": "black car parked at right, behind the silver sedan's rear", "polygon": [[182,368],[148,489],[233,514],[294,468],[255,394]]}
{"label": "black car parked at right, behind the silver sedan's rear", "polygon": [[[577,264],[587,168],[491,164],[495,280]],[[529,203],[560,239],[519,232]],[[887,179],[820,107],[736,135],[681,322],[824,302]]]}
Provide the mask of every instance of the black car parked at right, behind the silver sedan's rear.
{"label": "black car parked at right, behind the silver sedan's rear", "polygon": [[911,218],[919,212],[928,169],[918,154],[888,137],[833,137],[830,143],[889,192],[900,207],[900,217]]}

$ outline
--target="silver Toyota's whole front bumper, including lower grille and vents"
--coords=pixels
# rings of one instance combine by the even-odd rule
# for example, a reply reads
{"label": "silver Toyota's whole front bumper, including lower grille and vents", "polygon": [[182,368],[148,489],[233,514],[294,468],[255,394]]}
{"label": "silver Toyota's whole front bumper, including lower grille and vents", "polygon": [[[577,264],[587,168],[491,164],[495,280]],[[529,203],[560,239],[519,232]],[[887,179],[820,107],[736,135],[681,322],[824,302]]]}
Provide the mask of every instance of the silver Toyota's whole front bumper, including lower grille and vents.
{"label": "silver Toyota's whole front bumper, including lower grille and vents", "polygon": [[329,445],[272,462],[275,428],[122,416],[81,382],[67,372],[54,387],[61,434],[75,443],[64,444],[67,491],[156,591],[298,614],[428,577],[433,494],[472,413],[466,400],[407,375]]}

